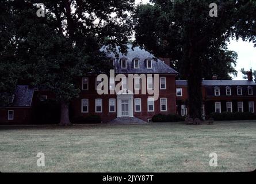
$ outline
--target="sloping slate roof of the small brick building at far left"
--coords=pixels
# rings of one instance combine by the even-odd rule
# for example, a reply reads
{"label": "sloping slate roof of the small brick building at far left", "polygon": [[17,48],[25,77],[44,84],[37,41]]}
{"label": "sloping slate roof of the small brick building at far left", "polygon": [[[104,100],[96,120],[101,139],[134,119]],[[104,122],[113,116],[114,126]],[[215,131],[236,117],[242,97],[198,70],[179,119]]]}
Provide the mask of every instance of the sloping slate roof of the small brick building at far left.
{"label": "sloping slate roof of the small brick building at far left", "polygon": [[34,89],[27,85],[19,85],[14,93],[14,101],[11,106],[31,106]]}

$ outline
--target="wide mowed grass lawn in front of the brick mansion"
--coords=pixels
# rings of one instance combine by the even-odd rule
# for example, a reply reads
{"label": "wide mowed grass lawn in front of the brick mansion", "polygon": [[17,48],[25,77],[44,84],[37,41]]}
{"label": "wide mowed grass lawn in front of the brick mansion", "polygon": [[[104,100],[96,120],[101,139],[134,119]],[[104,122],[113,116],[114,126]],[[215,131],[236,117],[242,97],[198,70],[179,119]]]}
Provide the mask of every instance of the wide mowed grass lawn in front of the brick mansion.
{"label": "wide mowed grass lawn in front of the brick mansion", "polygon": [[[36,155],[45,154],[45,167]],[[216,152],[217,167],[209,166]],[[1,172],[233,172],[256,168],[256,122],[0,127]]]}

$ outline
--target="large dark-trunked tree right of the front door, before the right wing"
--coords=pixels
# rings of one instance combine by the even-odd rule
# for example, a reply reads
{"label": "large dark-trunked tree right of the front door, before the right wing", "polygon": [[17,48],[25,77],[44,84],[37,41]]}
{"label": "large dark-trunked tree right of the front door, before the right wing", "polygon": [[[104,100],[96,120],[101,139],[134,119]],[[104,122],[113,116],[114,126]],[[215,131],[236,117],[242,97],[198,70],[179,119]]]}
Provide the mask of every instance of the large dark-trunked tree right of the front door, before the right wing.
{"label": "large dark-trunked tree right of the front door, before the right wing", "polygon": [[236,74],[233,65],[237,56],[227,51],[227,41],[240,30],[239,19],[247,18],[242,7],[250,8],[251,12],[255,10],[255,1],[215,1],[217,17],[209,15],[210,0],[151,0],[151,3],[139,5],[133,14],[135,44],[156,56],[170,57],[171,66],[180,72],[181,78],[188,79],[189,115],[201,117],[202,78],[217,74],[224,79],[230,73]]}

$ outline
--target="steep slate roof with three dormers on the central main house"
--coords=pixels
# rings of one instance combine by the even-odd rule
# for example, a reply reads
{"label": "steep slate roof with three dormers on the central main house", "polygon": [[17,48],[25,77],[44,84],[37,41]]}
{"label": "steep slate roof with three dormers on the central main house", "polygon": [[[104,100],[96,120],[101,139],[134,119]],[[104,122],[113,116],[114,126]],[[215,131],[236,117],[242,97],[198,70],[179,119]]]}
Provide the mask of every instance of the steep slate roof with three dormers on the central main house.
{"label": "steep slate roof with three dormers on the central main house", "polygon": [[[119,56],[116,58],[113,52],[106,54],[108,57],[115,59],[114,66],[115,72],[117,74],[178,74],[177,71],[175,71],[170,66],[167,66],[167,64],[165,64],[162,60],[156,58],[154,55],[152,55],[145,49],[141,49],[139,47],[134,47],[132,49],[131,44],[128,44],[127,47],[127,55],[124,55],[119,52]],[[118,50],[119,49],[117,48],[117,51]],[[121,59],[127,59],[127,68],[121,68]],[[139,59],[140,61],[138,69],[133,67],[134,59]],[[152,69],[148,69],[146,67],[147,59],[152,60]]]}

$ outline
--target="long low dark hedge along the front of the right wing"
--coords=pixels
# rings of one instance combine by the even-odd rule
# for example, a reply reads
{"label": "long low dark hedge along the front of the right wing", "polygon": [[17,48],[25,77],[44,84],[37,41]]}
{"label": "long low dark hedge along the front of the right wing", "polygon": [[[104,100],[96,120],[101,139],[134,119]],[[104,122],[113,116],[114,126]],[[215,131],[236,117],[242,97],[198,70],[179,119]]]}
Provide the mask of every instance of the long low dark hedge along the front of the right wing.
{"label": "long low dark hedge along the front of the right wing", "polygon": [[222,112],[211,113],[208,118],[213,118],[215,121],[231,121],[231,120],[256,120],[256,114],[250,112]]}

